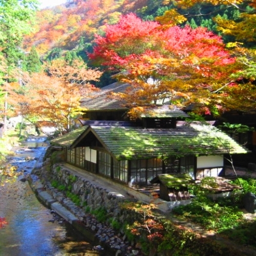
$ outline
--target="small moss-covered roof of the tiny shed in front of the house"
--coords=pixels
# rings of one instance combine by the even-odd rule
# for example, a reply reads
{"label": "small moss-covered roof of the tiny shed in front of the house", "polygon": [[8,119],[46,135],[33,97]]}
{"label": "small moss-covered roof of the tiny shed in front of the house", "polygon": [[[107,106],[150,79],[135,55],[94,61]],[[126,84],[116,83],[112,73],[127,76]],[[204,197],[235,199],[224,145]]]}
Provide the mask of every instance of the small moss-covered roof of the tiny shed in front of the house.
{"label": "small moss-covered roof of the tiny shed in front of the house", "polygon": [[188,185],[194,183],[194,180],[188,173],[177,173],[177,174],[160,174],[157,175],[152,181],[154,183],[162,183],[168,188],[181,188],[188,187]]}

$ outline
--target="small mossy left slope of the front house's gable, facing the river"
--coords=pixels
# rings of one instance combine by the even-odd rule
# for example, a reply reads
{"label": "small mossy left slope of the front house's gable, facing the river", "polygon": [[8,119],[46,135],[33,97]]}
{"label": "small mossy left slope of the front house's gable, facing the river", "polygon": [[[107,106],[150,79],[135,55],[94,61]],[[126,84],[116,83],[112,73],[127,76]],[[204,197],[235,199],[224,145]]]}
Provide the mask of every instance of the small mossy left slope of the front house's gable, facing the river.
{"label": "small mossy left slope of the front house's gable, facing the river", "polygon": [[60,145],[63,147],[69,147],[75,140],[78,139],[80,135],[84,133],[84,131],[88,128],[88,126],[82,126],[74,131],[66,133],[60,137],[56,137],[55,139],[51,140],[50,143],[52,145]]}

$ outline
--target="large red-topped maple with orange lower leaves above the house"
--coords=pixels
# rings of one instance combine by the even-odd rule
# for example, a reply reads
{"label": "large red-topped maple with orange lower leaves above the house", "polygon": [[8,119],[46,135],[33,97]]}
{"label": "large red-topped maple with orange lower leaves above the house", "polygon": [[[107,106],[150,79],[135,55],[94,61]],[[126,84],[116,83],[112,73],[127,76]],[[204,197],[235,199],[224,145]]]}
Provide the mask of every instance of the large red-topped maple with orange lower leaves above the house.
{"label": "large red-topped maple with orange lower leaves above the house", "polygon": [[96,36],[89,56],[120,71],[116,77],[131,85],[114,95],[125,104],[142,111],[168,99],[180,106],[196,103],[206,114],[224,108],[235,58],[219,36],[205,28],[166,28],[134,14],[122,16],[105,32]]}

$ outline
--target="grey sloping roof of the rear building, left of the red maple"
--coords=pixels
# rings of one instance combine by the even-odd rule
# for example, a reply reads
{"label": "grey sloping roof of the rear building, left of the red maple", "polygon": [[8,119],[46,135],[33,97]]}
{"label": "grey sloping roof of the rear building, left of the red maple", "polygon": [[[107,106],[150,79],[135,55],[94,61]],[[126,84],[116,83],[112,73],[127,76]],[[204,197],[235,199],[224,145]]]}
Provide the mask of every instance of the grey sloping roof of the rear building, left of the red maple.
{"label": "grey sloping roof of the rear building, left of the red maple", "polygon": [[128,84],[120,82],[101,88],[101,91],[95,92],[91,98],[81,100],[81,107],[88,110],[114,110],[127,109],[123,103],[115,99],[110,99],[110,92],[124,92]]}

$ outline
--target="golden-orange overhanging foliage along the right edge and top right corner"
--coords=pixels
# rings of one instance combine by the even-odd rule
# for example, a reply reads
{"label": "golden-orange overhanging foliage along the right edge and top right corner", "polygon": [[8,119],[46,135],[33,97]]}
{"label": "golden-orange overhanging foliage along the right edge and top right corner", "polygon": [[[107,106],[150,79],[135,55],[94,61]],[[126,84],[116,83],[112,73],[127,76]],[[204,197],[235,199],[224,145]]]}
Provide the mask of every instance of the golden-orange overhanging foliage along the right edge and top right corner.
{"label": "golden-orange overhanging foliage along the right edge and top right corner", "polygon": [[[169,4],[169,0],[164,1]],[[224,102],[226,109],[234,109],[240,111],[255,111],[256,109],[256,54],[254,43],[256,41],[256,1],[255,0],[178,0],[175,1],[176,9],[168,10],[163,16],[157,17],[156,21],[160,22],[162,26],[169,27],[174,24],[183,23],[188,16],[193,16],[193,13],[186,12],[187,9],[194,5],[213,5],[221,8],[230,8],[238,10],[238,17],[235,19],[228,19],[217,15],[213,18],[218,25],[217,30],[222,35],[229,36],[229,40],[234,42],[227,43],[231,55],[236,57],[236,66],[230,72],[232,80],[228,86],[225,87]],[[197,9],[197,8],[195,8]],[[181,11],[182,13],[181,14]],[[191,10],[191,9],[190,9]],[[185,14],[184,14],[185,13]],[[202,15],[197,13],[196,15]],[[222,87],[221,87],[222,88]],[[223,88],[222,88],[223,89]],[[223,90],[218,90],[218,92]]]}

